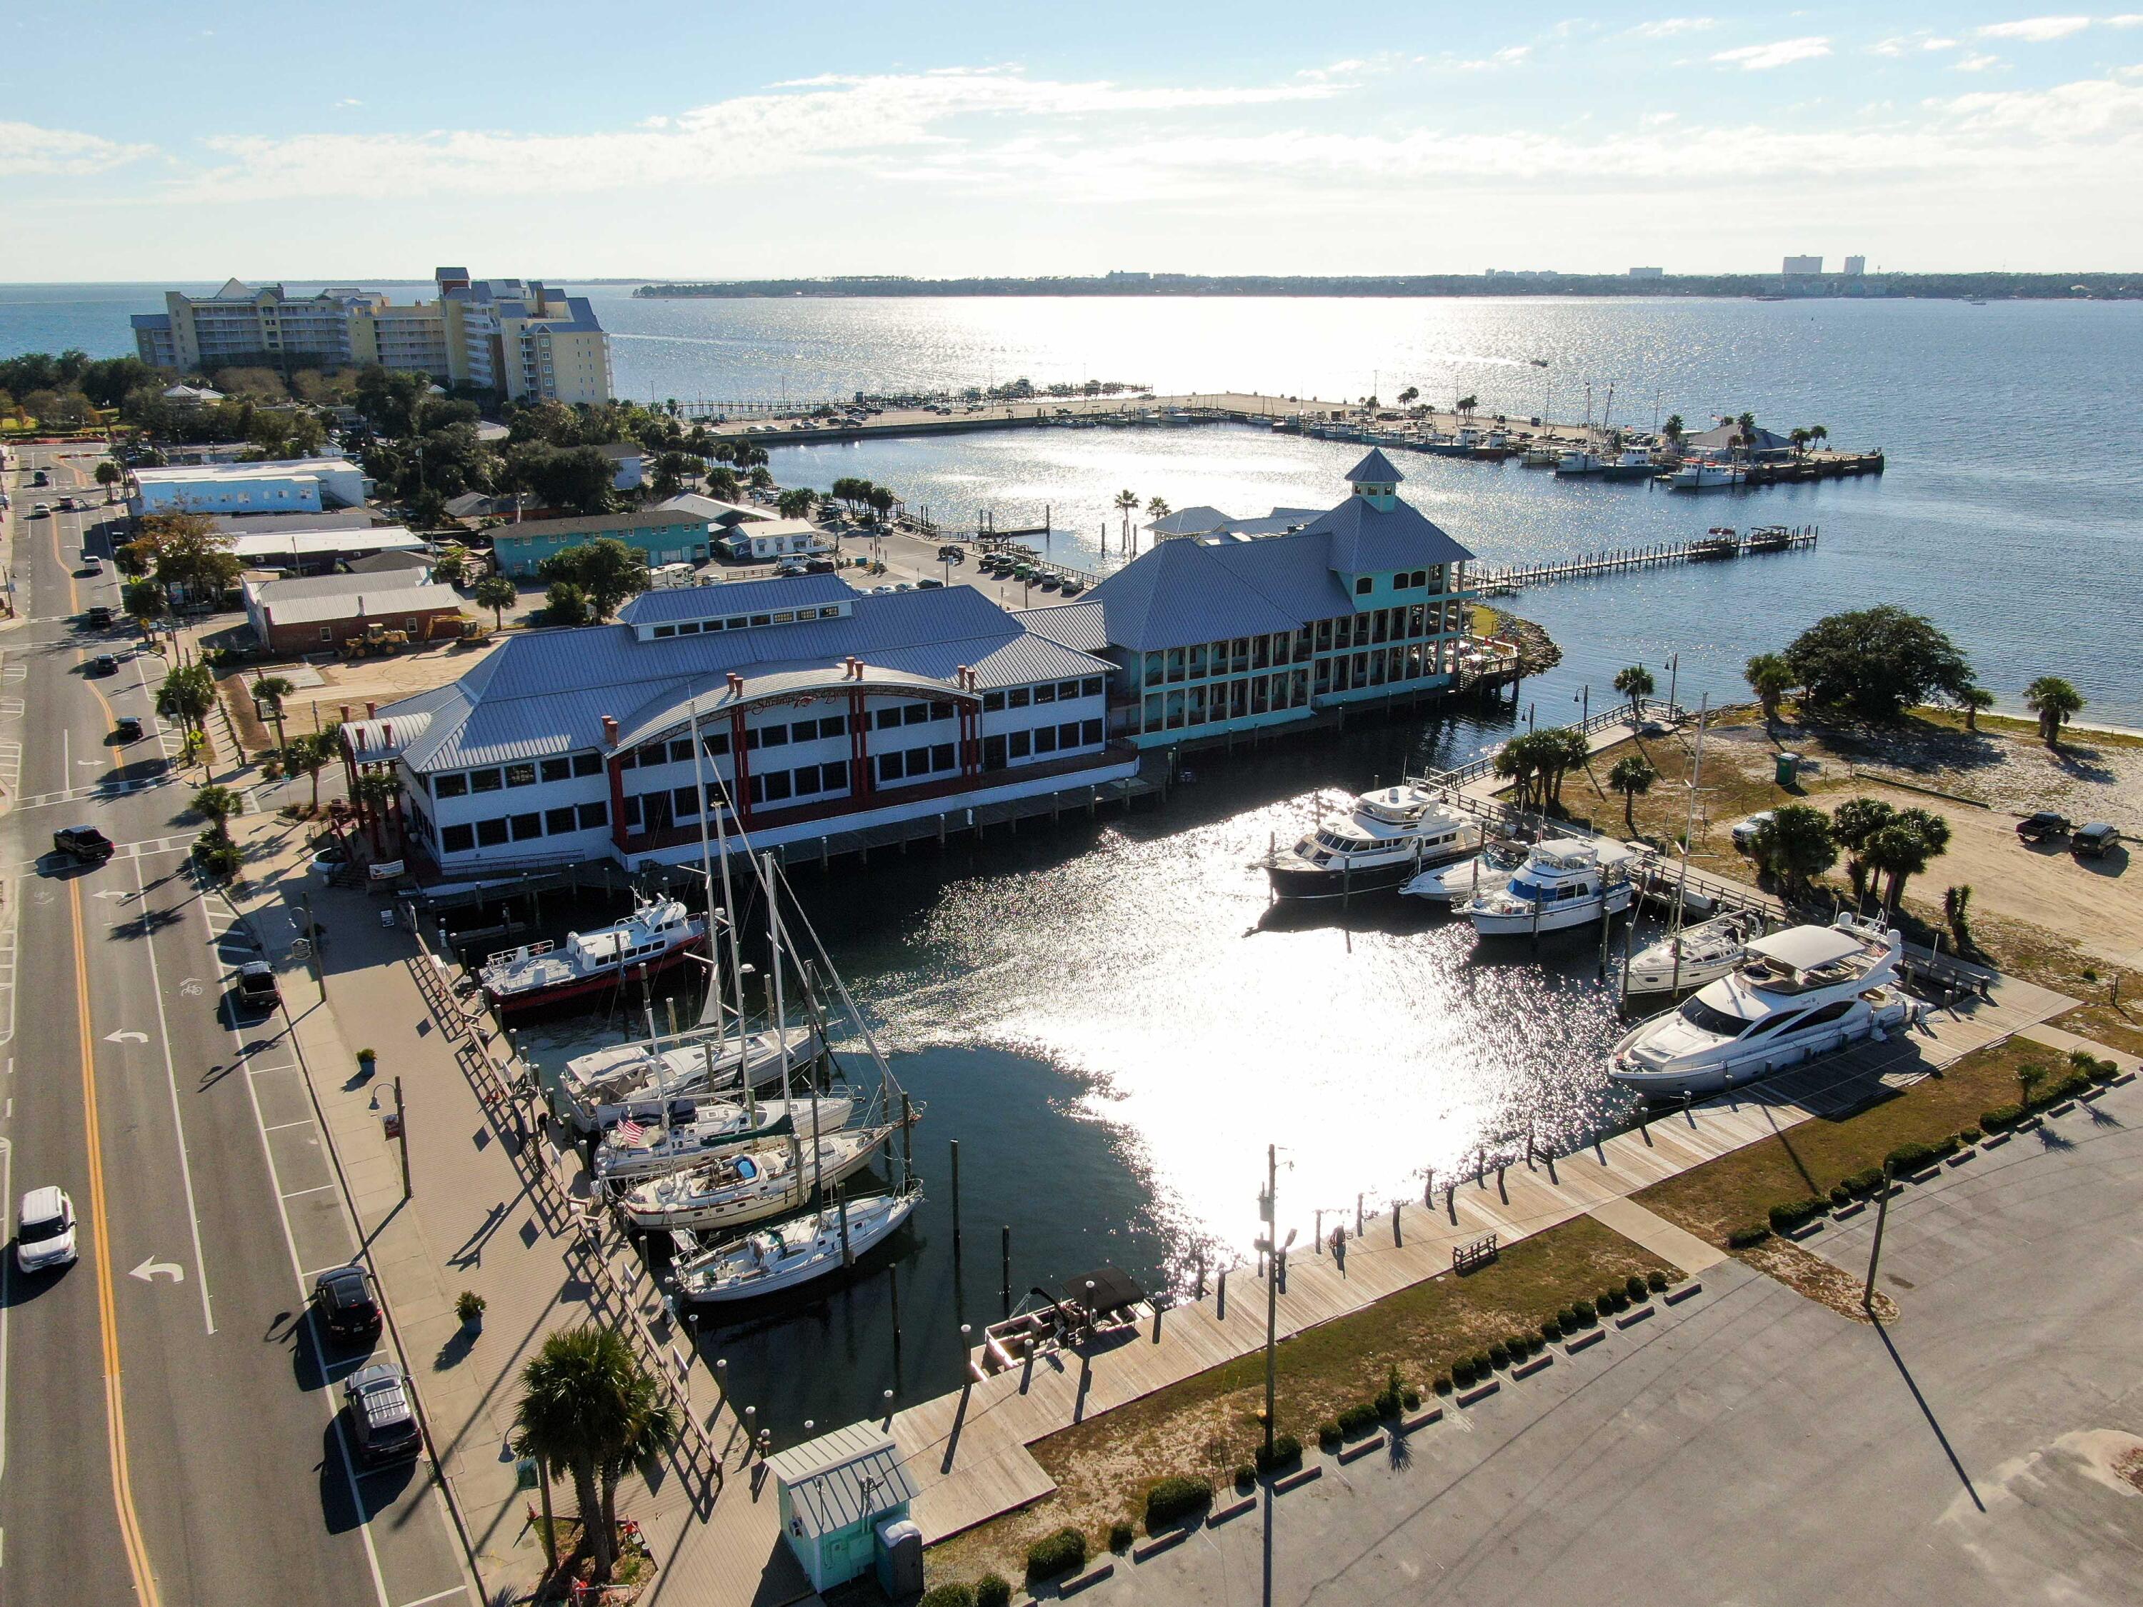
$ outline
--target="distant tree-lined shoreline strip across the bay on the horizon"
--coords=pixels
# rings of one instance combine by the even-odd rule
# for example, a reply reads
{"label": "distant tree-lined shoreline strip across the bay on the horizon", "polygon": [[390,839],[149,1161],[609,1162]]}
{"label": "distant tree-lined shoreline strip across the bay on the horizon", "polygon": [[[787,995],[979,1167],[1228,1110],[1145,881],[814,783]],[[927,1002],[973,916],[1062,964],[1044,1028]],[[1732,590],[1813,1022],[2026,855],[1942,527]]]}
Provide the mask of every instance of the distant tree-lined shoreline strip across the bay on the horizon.
{"label": "distant tree-lined shoreline strip across the bay on the horizon", "polygon": [[1106,274],[1065,279],[722,279],[647,283],[643,300],[763,300],[763,298],[887,298],[887,296],[1618,296],[1738,298],[1738,300],[2143,300],[2143,272],[2134,274]]}

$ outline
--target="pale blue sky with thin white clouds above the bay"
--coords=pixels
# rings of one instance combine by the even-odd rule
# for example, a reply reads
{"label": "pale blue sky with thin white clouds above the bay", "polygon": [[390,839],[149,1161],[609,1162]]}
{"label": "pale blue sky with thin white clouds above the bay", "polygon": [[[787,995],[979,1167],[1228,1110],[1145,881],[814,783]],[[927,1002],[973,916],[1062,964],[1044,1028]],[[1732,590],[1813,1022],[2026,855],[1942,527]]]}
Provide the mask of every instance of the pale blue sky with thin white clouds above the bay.
{"label": "pale blue sky with thin white clouds above the bay", "polygon": [[2143,11],[13,0],[0,60],[13,283],[2143,266]]}

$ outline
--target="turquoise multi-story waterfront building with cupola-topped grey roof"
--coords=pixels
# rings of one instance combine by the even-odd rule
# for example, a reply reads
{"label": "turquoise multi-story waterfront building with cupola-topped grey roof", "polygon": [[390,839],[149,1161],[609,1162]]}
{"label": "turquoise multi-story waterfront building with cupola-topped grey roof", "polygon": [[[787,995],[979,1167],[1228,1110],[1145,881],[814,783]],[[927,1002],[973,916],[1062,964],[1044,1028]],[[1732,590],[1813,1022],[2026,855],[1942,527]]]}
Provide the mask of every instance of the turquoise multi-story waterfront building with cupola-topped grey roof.
{"label": "turquoise multi-story waterfront building with cupola-topped grey roof", "polygon": [[1110,735],[1140,748],[1444,692],[1472,626],[1472,553],[1399,501],[1399,480],[1372,450],[1329,512],[1200,510],[1200,534],[1018,619],[1110,662]]}

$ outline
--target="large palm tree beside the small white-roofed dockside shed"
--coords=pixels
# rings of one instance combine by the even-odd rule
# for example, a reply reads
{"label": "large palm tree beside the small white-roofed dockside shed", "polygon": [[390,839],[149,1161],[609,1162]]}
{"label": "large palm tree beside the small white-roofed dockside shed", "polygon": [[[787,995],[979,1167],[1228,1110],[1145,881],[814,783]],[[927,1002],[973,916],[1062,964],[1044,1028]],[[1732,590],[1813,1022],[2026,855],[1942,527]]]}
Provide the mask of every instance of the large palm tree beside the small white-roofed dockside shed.
{"label": "large palm tree beside the small white-roofed dockside shed", "polygon": [[553,1333],[521,1369],[514,1427],[544,1474],[544,1504],[551,1474],[572,1478],[594,1581],[606,1581],[617,1483],[634,1459],[677,1438],[675,1408],[621,1335],[589,1324]]}

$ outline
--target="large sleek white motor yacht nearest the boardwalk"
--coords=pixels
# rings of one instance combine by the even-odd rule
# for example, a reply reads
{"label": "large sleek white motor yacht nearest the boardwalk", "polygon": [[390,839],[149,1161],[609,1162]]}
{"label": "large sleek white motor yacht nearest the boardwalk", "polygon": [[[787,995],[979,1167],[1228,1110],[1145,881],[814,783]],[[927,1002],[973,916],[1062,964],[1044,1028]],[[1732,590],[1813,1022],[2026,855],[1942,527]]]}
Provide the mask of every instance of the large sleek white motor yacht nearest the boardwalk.
{"label": "large sleek white motor yacht nearest the boardwalk", "polygon": [[1678,1009],[1633,1026],[1609,1076],[1661,1099],[1755,1082],[1817,1054],[1905,1026],[1903,938],[1852,913],[1751,938],[1740,964]]}

